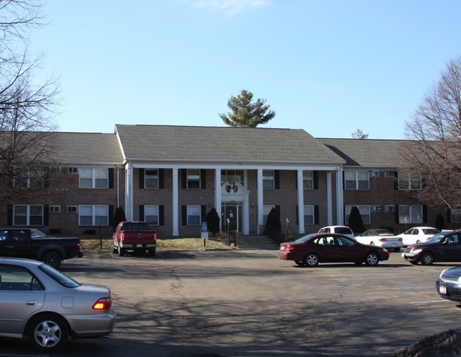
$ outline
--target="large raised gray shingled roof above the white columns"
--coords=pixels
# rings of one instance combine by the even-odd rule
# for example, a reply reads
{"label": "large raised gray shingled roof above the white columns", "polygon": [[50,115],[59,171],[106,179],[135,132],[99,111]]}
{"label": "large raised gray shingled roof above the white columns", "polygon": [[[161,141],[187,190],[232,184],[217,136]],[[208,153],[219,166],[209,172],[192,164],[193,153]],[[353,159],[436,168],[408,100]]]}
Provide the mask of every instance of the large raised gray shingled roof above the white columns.
{"label": "large raised gray shingled roof above the white columns", "polygon": [[304,130],[116,125],[126,159],[343,163]]}

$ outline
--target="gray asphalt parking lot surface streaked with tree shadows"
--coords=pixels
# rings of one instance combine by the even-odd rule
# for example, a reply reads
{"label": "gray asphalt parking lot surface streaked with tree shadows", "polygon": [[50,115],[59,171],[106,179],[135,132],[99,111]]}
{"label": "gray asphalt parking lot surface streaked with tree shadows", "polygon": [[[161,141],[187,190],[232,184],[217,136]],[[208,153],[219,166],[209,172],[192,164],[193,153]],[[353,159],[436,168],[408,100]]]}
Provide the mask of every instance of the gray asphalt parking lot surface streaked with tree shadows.
{"label": "gray asphalt parking lot surface streaked with tree shadows", "polygon": [[[54,356],[391,356],[460,327],[441,299],[444,268],[399,253],[378,266],[296,266],[277,251],[86,254],[62,264],[81,283],[108,285],[118,317],[108,339],[71,341]],[[0,340],[0,356],[43,356]]]}

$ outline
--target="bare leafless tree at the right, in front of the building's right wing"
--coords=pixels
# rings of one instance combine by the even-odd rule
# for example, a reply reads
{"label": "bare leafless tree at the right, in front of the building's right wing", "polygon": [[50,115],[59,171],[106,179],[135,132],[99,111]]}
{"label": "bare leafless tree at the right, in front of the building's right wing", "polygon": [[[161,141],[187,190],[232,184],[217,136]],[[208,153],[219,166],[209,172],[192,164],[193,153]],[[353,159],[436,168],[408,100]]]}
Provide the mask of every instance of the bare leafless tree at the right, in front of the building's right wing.
{"label": "bare leafless tree at the right, in front of the building's right wing", "polygon": [[461,57],[448,62],[438,83],[406,123],[402,158],[406,175],[418,181],[423,202],[461,208]]}

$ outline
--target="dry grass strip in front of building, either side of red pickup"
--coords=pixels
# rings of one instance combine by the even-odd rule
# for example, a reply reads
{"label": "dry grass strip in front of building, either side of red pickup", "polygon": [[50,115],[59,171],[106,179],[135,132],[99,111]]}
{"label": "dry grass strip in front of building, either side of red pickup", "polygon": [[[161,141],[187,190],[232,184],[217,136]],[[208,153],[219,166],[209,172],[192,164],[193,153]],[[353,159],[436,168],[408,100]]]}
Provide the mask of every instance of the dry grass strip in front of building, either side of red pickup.
{"label": "dry grass strip in front of building, either side of red pickup", "polygon": [[[94,236],[82,236],[80,238],[80,249],[85,253],[97,251],[112,251],[112,239]],[[102,249],[101,249],[102,246]],[[201,238],[162,238],[157,239],[157,251],[194,251],[204,249],[229,249],[227,241],[219,239],[204,239]]]}

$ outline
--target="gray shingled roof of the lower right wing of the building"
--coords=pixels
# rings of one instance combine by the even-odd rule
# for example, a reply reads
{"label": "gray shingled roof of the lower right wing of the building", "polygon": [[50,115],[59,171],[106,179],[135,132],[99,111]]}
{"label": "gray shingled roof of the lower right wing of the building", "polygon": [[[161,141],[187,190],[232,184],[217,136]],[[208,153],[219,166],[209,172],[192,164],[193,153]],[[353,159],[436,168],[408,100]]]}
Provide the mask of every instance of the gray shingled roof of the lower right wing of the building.
{"label": "gray shingled roof of the lower right wing of the building", "polygon": [[346,160],[347,166],[399,167],[399,152],[405,140],[326,139],[326,147]]}

